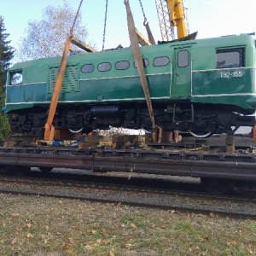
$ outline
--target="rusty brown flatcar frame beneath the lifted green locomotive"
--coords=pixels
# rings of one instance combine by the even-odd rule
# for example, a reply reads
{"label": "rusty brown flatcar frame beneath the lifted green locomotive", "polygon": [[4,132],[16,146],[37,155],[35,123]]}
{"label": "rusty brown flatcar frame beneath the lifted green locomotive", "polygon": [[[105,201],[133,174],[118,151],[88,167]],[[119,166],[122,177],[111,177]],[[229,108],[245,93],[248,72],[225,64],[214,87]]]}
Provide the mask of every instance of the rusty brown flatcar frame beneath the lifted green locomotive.
{"label": "rusty brown flatcar frame beneath the lifted green locomotive", "polygon": [[0,165],[139,172],[256,181],[254,154],[145,150],[0,148]]}

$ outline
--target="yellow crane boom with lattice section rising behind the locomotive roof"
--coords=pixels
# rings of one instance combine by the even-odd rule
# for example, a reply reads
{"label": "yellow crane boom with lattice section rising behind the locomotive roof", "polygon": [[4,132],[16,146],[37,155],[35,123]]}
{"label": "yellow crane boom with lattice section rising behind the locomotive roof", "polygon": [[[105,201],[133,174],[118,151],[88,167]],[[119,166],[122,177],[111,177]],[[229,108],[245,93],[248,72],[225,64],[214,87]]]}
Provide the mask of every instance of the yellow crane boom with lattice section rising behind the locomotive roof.
{"label": "yellow crane boom with lattice section rising behind the locomotive roof", "polygon": [[155,0],[160,31],[165,41],[174,40],[174,27],[177,27],[177,39],[188,36],[189,29],[185,19],[183,0]]}

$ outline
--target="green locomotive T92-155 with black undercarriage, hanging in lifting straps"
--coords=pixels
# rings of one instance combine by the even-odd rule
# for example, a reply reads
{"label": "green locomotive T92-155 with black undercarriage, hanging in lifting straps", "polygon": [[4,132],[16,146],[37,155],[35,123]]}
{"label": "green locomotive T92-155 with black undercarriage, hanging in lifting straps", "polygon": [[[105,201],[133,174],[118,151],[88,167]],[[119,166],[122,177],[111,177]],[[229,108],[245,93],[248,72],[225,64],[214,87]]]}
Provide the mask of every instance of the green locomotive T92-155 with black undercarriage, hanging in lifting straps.
{"label": "green locomotive T92-155 with black undercarriage, hanging in lifting straps", "polygon": [[[141,47],[155,124],[195,137],[255,125],[255,40],[251,35]],[[11,131],[44,130],[60,57],[9,69],[4,113]],[[109,125],[152,129],[131,48],[69,55],[55,129],[73,133]]]}

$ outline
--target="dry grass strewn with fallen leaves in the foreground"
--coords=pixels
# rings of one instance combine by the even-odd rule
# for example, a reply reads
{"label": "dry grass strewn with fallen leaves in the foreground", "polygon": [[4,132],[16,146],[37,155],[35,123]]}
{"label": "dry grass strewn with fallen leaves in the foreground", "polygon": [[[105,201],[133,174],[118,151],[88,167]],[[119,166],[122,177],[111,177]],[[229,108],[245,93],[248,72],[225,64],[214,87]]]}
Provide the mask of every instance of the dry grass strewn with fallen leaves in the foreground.
{"label": "dry grass strewn with fallen leaves in the foreground", "polygon": [[256,222],[0,195],[0,255],[256,255]]}

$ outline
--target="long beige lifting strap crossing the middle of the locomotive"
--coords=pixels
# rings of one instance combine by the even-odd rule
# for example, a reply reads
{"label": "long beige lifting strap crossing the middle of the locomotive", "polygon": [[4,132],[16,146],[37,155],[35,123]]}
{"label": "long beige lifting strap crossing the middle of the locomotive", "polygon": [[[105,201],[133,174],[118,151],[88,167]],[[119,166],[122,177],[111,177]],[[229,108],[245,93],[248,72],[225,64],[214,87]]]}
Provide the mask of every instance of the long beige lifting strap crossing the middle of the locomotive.
{"label": "long beige lifting strap crossing the middle of the locomotive", "polygon": [[[126,13],[127,13],[127,24],[128,24],[129,37],[130,37],[130,41],[131,41],[131,49],[132,49],[132,52],[134,55],[135,63],[137,65],[137,71],[139,73],[141,83],[143,85],[143,91],[144,91],[144,95],[145,95],[146,102],[148,105],[148,113],[149,113],[149,116],[150,116],[150,119],[152,122],[152,129],[155,132],[157,127],[154,122],[154,113],[153,113],[153,108],[152,108],[152,102],[150,99],[150,94],[149,94],[149,90],[148,90],[148,82],[147,82],[145,70],[143,67],[143,57],[142,57],[141,50],[140,50],[139,44],[138,44],[136,28],[135,28],[133,16],[131,14],[129,0],[125,0],[124,3],[125,3]],[[153,133],[153,139],[155,142],[156,138],[155,138],[154,134],[155,133]]]}

